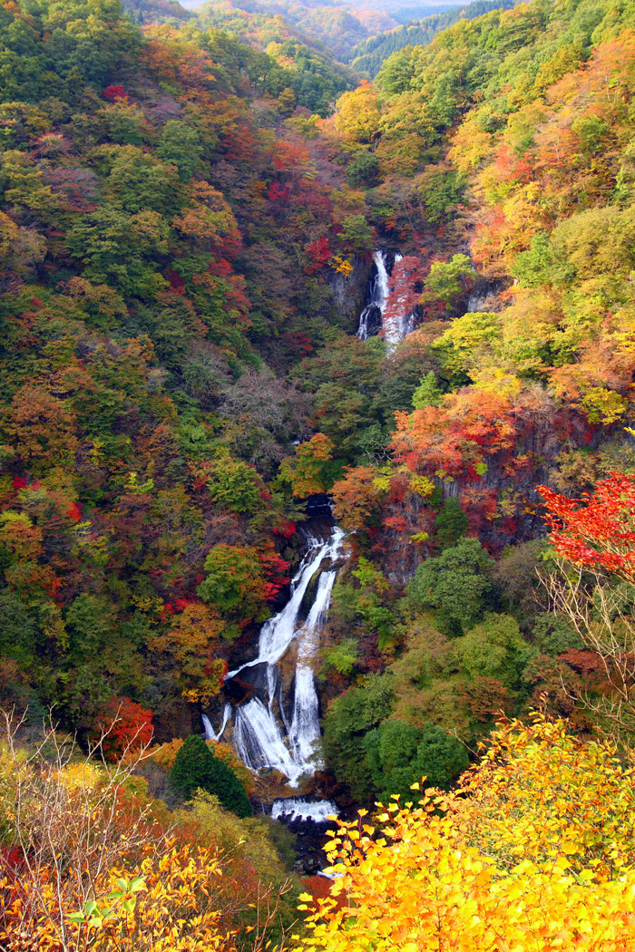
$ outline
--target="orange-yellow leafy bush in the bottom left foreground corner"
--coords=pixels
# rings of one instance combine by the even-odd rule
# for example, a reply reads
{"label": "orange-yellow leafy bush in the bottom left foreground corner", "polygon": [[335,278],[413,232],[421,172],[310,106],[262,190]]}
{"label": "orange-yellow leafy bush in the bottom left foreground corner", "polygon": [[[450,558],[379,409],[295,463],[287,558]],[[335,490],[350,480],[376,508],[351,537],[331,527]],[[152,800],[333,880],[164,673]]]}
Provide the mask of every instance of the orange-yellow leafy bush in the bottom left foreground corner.
{"label": "orange-yellow leafy bush in the bottom left foreground corner", "polygon": [[[148,843],[133,870],[113,868],[94,883],[95,898],[82,901],[73,883],[60,890],[51,867],[32,877],[0,880],[0,948],[15,952],[231,952],[231,934],[221,927],[214,902],[221,870],[215,850]],[[169,846],[169,844],[168,844]],[[134,891],[133,891],[134,890]],[[37,901],[33,902],[37,895]],[[25,919],[24,906],[44,915]],[[6,943],[6,944],[3,944]]]}

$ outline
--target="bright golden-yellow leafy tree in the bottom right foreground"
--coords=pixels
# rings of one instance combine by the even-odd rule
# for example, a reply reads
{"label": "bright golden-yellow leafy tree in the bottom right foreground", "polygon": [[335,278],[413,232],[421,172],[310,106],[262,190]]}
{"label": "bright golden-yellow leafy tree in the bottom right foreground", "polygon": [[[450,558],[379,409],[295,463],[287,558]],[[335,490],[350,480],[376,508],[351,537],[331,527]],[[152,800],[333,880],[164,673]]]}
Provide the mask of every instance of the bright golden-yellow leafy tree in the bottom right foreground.
{"label": "bright golden-yellow leafy tree in the bottom right foreground", "polygon": [[[419,800],[420,794],[413,794]],[[308,908],[317,952],[635,949],[630,761],[562,721],[502,724],[459,788],[338,823],[339,877]]]}

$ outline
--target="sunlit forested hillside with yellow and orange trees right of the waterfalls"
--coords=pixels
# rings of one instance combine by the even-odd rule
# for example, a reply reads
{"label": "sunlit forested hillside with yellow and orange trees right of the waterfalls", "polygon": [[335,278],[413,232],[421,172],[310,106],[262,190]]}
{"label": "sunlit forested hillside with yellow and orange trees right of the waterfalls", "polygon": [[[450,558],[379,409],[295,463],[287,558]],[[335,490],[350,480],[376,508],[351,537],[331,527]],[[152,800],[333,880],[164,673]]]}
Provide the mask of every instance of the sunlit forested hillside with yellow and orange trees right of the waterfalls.
{"label": "sunlit forested hillside with yellow and orange trees right of the waterfalls", "polygon": [[497,710],[543,699],[588,724],[610,693],[539,583],[538,486],[575,497],[633,471],[634,15],[534,3],[461,20],[391,56],[327,124],[404,254],[418,324],[388,359],[418,368],[410,407],[333,488],[358,562],[334,593],[327,658],[352,686],[325,744],[356,798],[405,795],[417,771],[447,782],[462,769],[447,733],[478,737]]}

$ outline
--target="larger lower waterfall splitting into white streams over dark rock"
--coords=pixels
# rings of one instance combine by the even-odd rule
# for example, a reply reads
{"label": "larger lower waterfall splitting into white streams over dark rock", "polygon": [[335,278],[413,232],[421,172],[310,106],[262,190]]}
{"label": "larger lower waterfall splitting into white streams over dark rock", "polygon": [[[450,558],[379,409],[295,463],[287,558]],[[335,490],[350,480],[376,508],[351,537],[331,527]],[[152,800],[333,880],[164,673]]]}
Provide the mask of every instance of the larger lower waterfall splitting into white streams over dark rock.
{"label": "larger lower waterfall splitting into white streams over dark rock", "polygon": [[[223,725],[218,734],[213,735],[217,740],[220,739],[232,718],[232,743],[241,760],[251,770],[279,770],[288,778],[291,786],[297,786],[300,778],[313,773],[318,765],[314,745],[320,737],[319,703],[311,662],[319,645],[320,627],[327,614],[337,575],[335,569],[327,567],[321,572],[304,624],[299,623],[300,609],[315,574],[323,565],[341,556],[343,540],[344,532],[337,526],[326,542],[309,539],[308,552],[291,581],[287,605],[261,628],[258,657],[230,671],[227,676],[228,679],[235,678],[238,674],[265,664],[266,691],[260,692],[265,697],[258,697],[254,690],[246,703],[233,709],[228,704]],[[275,702],[282,690],[277,663],[291,642],[297,645],[297,663],[293,714],[291,724],[287,724],[283,704],[279,704],[281,723],[276,714]],[[206,724],[206,732],[207,729]],[[212,730],[211,725],[209,729]]]}

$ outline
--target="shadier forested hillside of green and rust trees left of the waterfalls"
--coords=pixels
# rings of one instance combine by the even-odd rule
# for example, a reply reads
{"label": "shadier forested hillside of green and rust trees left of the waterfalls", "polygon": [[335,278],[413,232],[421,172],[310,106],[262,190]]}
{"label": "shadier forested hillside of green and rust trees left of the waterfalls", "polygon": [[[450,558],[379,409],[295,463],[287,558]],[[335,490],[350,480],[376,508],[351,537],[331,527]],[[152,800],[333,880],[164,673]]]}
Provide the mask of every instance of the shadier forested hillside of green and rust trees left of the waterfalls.
{"label": "shadier forested hillside of green and rust trees left of the waterfalls", "polygon": [[285,375],[337,327],[315,274],[368,247],[364,198],[285,127],[267,54],[3,10],[3,700],[84,733],[125,696],[169,739],[285,584]]}

